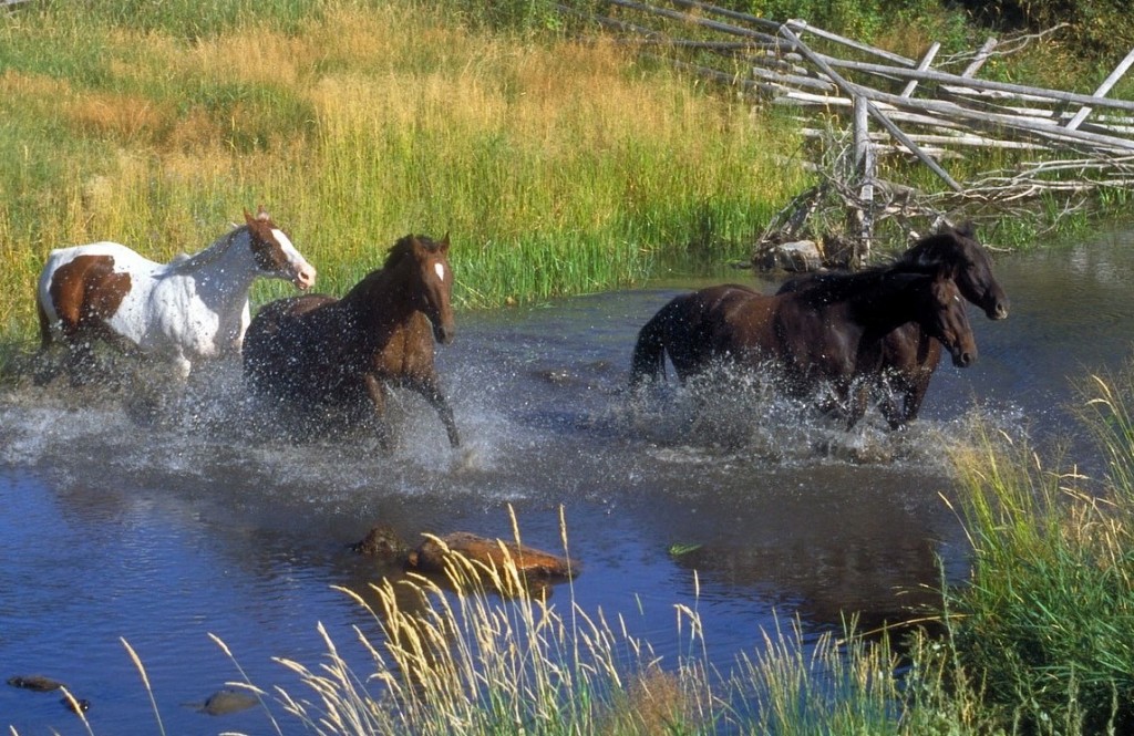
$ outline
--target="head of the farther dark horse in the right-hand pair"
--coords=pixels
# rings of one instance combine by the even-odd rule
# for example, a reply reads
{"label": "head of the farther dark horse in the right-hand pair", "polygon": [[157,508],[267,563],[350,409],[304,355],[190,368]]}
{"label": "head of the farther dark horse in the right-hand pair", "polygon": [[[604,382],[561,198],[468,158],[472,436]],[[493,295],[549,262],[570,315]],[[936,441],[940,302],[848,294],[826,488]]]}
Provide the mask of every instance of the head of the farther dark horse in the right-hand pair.
{"label": "head of the farther dark horse in the right-hand pair", "polygon": [[990,320],[1008,316],[1008,296],[992,276],[992,260],[976,240],[976,228],[965,222],[959,228],[945,226],[936,235],[917,242],[903,254],[899,263],[936,272],[946,268],[960,294],[984,310]]}

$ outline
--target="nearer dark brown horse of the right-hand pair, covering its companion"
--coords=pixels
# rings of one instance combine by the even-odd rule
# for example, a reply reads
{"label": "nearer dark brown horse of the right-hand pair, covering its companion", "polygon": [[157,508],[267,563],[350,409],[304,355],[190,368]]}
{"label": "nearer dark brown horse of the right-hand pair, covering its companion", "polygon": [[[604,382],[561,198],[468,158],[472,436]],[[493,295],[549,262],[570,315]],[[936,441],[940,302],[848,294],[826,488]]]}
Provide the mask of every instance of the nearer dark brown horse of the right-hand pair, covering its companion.
{"label": "nearer dark brown horse of the right-hand pair, covering its companion", "polygon": [[943,342],[956,365],[976,359],[960,291],[947,273],[872,269],[775,296],[735,285],[678,296],[638,332],[631,382],[662,373],[667,353],[683,381],[718,362],[769,365],[793,396],[829,382],[838,401],[829,408],[849,429],[866,411],[886,336],[911,321]]}

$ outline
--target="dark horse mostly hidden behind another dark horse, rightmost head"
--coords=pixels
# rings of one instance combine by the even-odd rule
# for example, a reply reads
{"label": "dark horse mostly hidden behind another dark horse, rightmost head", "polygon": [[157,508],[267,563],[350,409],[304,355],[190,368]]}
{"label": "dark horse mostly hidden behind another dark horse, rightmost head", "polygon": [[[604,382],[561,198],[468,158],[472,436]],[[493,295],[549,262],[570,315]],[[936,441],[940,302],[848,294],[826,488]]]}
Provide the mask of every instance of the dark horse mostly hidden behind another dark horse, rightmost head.
{"label": "dark horse mostly hidden behind another dark horse, rightmost head", "polygon": [[[971,222],[960,228],[945,227],[922,238],[890,268],[922,273],[943,270],[956,281],[962,296],[984,310],[988,319],[1008,316],[1008,297],[992,274],[988,251],[978,243]],[[826,273],[796,277],[786,281],[780,293],[809,288],[824,278],[828,278]],[[907,322],[887,336],[878,389],[881,395],[879,409],[891,429],[917,418],[930,379],[940,362],[940,342],[929,337],[916,322]],[[902,406],[895,396],[900,398]]]}

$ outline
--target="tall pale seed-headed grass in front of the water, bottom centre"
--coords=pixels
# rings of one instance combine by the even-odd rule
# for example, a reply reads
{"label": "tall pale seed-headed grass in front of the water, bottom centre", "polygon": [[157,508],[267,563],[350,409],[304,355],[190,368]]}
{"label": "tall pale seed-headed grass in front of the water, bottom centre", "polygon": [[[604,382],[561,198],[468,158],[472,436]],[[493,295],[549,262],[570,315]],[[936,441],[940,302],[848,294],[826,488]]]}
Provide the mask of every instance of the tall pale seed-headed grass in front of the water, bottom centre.
{"label": "tall pale seed-headed grass in front of the water, bottom centre", "polygon": [[376,610],[345,591],[380,633],[355,627],[373,671],[354,670],[321,626],[318,668],[279,660],[302,686],[278,690],[287,712],[322,734],[900,733],[885,642],[827,634],[813,644],[797,624],[777,627],[720,672],[694,609],[676,607],[688,649],[670,661],[623,616],[584,611],[570,585],[557,606],[564,593],[531,587],[510,560],[449,562],[443,585],[417,576],[375,585]]}

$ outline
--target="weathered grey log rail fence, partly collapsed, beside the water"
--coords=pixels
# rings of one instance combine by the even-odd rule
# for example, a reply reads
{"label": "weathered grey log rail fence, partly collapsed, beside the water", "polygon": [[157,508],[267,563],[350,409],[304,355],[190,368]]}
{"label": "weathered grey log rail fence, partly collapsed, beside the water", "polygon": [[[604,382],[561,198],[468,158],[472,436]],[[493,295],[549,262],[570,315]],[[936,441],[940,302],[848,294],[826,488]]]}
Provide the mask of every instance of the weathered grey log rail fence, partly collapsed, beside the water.
{"label": "weathered grey log rail fence, partly collapsed, beside the water", "polygon": [[[1026,215],[1041,198],[1070,212],[1100,188],[1134,186],[1134,101],[1107,98],[1134,65],[1134,50],[1083,94],[979,77],[989,59],[1043,34],[989,39],[945,59],[932,43],[909,59],[803,20],[778,23],[695,0],[607,0],[606,7],[604,15],[584,17],[641,54],[731,85],[760,104],[787,107],[801,135],[819,144],[809,163],[820,184],[773,219],[756,245],[758,262],[778,244],[810,236],[839,240],[827,260],[856,265],[869,257],[882,220],[892,218],[915,237],[941,221]],[[957,180],[949,163],[975,149],[1001,150],[1012,166]],[[895,155],[928,167],[940,186],[880,179],[879,159]]]}

